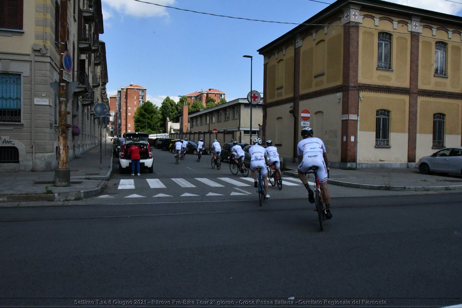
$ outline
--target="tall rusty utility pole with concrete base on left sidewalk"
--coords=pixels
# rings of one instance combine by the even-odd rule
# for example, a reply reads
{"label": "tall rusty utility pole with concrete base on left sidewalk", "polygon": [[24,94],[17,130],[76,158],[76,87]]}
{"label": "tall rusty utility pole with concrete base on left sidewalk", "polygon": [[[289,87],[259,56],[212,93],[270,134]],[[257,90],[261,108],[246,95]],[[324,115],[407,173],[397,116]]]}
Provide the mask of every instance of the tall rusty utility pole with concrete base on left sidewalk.
{"label": "tall rusty utility pole with concrete base on left sidewalk", "polygon": [[[56,8],[58,9],[58,8]],[[69,186],[71,170],[67,169],[67,81],[63,79],[62,58],[67,42],[67,0],[60,1],[59,15],[59,112],[58,112],[58,168],[55,169],[55,186]]]}

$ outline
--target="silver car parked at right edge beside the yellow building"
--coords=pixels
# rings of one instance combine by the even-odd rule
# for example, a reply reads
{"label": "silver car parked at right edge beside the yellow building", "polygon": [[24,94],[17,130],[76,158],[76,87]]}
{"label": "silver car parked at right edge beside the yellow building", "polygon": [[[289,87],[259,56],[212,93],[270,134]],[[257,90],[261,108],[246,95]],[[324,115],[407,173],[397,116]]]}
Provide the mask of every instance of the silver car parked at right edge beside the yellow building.
{"label": "silver car parked at right edge beside the yellow building", "polygon": [[423,174],[431,172],[462,174],[462,147],[444,148],[419,159],[417,168]]}

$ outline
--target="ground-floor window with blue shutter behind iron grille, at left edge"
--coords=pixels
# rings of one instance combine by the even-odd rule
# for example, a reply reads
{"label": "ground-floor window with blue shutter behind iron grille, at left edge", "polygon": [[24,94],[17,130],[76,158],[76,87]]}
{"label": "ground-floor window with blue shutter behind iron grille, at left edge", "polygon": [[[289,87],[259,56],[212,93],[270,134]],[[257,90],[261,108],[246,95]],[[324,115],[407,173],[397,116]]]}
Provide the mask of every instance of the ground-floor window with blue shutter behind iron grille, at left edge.
{"label": "ground-floor window with blue shutter behind iron grille, at left edge", "polygon": [[21,122],[21,75],[0,73],[0,122]]}

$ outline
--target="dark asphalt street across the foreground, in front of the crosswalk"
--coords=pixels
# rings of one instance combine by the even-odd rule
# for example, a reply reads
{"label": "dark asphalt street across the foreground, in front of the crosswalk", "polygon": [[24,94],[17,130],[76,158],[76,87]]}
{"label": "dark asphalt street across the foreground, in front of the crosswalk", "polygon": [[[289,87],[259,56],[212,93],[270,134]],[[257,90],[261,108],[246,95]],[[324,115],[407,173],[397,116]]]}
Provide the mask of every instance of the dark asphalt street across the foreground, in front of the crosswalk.
{"label": "dark asphalt street across the foreground, in front of the crosswalk", "polygon": [[[264,207],[256,200],[106,199],[1,208],[0,290],[4,297],[93,301],[370,297],[387,301],[383,307],[461,303],[461,196],[336,198],[323,232],[301,199]],[[0,301],[75,306],[74,299],[62,298]]]}

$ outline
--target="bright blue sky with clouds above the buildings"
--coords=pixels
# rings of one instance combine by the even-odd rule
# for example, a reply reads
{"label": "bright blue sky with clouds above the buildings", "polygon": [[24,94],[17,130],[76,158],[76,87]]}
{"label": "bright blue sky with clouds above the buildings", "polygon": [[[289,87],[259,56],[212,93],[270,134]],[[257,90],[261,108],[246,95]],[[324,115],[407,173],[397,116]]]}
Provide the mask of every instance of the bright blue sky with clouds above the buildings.
{"label": "bright blue sky with clouds above the buildings", "polygon": [[[334,0],[320,0],[333,3]],[[458,1],[458,0],[457,0]],[[256,50],[296,27],[216,17],[134,0],[102,0],[109,95],[131,82],[147,88],[159,105],[165,97],[218,89],[226,100],[263,92],[263,56]],[[177,8],[268,21],[303,23],[326,8],[310,0],[146,0]],[[408,6],[460,15],[462,4],[449,0],[393,0]],[[462,0],[461,0],[462,2]]]}

